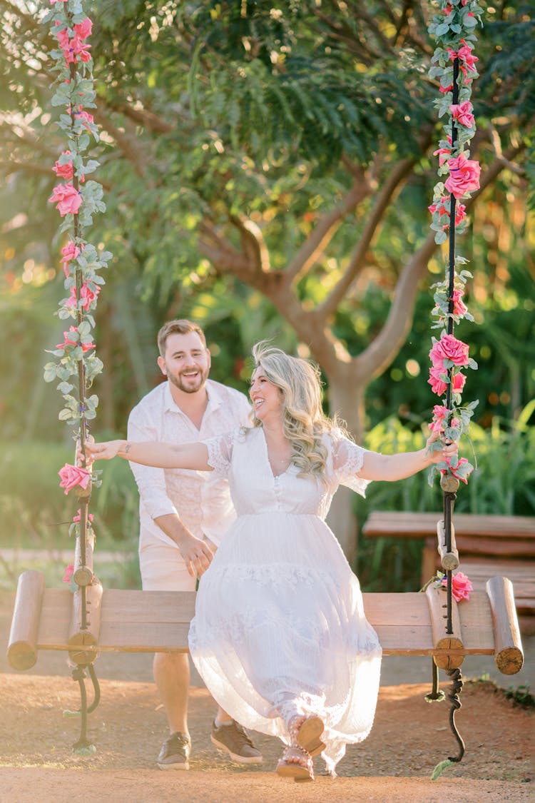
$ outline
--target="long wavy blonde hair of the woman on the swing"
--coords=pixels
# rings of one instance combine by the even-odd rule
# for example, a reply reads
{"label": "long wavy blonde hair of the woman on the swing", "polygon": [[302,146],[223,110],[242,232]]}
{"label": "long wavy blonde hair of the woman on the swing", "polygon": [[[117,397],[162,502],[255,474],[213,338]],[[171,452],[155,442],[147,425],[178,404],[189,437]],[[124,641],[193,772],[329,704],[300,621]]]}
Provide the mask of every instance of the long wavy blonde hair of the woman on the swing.
{"label": "long wavy blonde hair of the woman on the swing", "polygon": [[[323,413],[318,366],[301,357],[290,357],[265,340],[253,346],[253,358],[255,368],[261,367],[282,392],[282,430],[292,446],[292,463],[299,469],[298,476],[322,475],[327,457],[322,436],[339,424]],[[254,426],[261,426],[257,418]]]}

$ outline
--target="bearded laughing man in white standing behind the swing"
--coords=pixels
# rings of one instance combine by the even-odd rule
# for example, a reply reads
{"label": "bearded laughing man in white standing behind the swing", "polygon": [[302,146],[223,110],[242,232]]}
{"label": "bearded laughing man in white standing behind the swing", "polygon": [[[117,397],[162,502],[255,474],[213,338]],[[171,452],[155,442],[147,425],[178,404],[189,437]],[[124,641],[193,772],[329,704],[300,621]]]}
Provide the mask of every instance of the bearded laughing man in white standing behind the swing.
{"label": "bearded laughing man in white standing behind the swing", "polygon": [[[158,365],[167,381],[141,399],[128,418],[128,439],[188,443],[249,423],[242,393],[208,378],[205,334],[188,320],[158,332]],[[193,591],[236,514],[226,481],[216,472],[157,469],[130,463],[140,491],[140,570],[144,590]],[[189,660],[156,653],[154,679],[168,718],[160,769],[188,769]],[[243,728],[221,708],[210,736],[237,763],[262,757]]]}

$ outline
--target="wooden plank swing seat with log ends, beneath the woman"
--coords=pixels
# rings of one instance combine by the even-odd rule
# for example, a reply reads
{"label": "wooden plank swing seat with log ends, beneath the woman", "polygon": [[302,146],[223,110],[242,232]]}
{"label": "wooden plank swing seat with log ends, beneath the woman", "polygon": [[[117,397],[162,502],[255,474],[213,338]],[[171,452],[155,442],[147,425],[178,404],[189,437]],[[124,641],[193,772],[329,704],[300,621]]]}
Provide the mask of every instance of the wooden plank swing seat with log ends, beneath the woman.
{"label": "wooden plank swing seat with log ends, beneath the woman", "polygon": [[[47,589],[41,573],[18,579],[7,657],[14,669],[30,669],[39,650],[65,650],[78,664],[101,652],[187,652],[195,592],[86,588],[87,621],[81,626],[80,590]],[[432,655],[455,669],[465,655],[493,655],[504,675],[521,670],[524,656],[513,585],[493,577],[486,591],[452,602],[452,634],[446,634],[446,594],[365,593],[364,609],[385,655]]]}

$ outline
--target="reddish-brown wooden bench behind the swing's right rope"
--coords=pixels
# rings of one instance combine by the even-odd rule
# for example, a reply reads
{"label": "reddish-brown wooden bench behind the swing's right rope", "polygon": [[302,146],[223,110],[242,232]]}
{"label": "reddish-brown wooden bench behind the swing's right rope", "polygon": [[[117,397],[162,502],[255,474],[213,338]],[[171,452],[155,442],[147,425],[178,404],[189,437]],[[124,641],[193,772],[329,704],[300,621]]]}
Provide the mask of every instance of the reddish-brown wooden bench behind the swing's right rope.
{"label": "reddish-brown wooden bench behind the swing's right rope", "polygon": [[[423,538],[422,585],[441,569],[437,524],[442,513],[374,511],[363,525],[368,538]],[[521,629],[535,628],[535,517],[454,513],[453,528],[460,570],[474,589],[484,589],[489,577],[513,582]]]}

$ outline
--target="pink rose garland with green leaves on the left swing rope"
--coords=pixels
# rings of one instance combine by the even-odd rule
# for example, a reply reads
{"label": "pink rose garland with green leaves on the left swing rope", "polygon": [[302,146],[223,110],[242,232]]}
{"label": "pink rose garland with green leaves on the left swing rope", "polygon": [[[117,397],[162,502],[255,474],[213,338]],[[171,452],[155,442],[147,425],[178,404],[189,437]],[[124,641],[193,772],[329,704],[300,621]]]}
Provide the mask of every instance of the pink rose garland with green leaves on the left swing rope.
{"label": "pink rose garland with green leaves on the left swing rope", "polygon": [[[100,285],[104,283],[99,270],[107,267],[111,254],[83,238],[84,228],[91,226],[92,215],[106,208],[102,201],[102,186],[96,181],[86,181],[87,174],[94,172],[99,162],[83,157],[83,151],[89,147],[87,132],[98,140],[95,119],[84,108],[92,108],[95,98],[91,45],[87,43],[93,23],[83,14],[80,2],[50,0],[50,6],[43,23],[50,25],[51,34],[59,43],[59,48],[52,54],[58,74],[52,84],[55,92],[52,105],[63,106],[66,112],[59,116],[57,124],[65,132],[69,145],[52,167],[60,182],[55,185],[48,202],[55,205],[61,218],[67,218],[60,226],[60,232],[69,231],[67,243],[61,249],[67,298],[60,301],[58,315],[61,320],[75,319],[75,325],[63,332],[63,341],[51,352],[55,362],[45,365],[44,374],[45,381],[59,380],[58,389],[65,400],[59,419],[72,422],[76,427],[75,437],[83,442],[89,432],[88,422],[95,418],[99,402],[98,396],[88,395],[87,390],[102,370],[102,362],[92,353],[95,343],[91,330],[95,327],[95,320],[89,313],[95,308]],[[73,382],[71,377],[76,377],[76,380]],[[75,462],[82,461],[77,456]],[[66,463],[58,473],[59,487],[65,494],[75,490],[76,495],[84,498],[83,532],[79,509],[73,517],[69,534],[85,539],[87,532],[92,532],[93,520],[87,512],[88,497],[91,487],[100,484],[97,479],[100,472],[93,474],[87,468]],[[71,585],[71,591],[77,589],[72,579],[73,572],[73,565],[69,565],[63,577],[63,581]]]}

